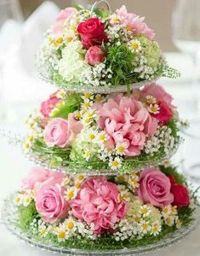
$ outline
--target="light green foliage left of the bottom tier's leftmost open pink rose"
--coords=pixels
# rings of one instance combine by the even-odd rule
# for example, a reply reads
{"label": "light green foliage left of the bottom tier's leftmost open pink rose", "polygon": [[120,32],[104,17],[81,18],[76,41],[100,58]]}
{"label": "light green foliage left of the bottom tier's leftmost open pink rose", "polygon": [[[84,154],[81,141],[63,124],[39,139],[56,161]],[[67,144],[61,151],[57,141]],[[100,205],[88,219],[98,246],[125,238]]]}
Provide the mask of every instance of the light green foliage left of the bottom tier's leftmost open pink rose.
{"label": "light green foliage left of the bottom tier's leftmost open pink rose", "polygon": [[27,207],[20,206],[19,207],[19,217],[20,217],[20,229],[26,232],[29,228],[29,224],[31,223],[33,218],[36,218],[38,215],[35,203],[31,201],[31,203]]}

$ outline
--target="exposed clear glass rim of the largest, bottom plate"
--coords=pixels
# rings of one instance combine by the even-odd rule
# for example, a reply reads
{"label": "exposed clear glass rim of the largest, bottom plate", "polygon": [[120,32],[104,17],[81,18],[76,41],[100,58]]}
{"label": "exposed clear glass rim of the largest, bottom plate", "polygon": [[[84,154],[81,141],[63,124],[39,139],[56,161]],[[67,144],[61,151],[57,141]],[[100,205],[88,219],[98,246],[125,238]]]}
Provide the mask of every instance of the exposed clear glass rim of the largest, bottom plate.
{"label": "exposed clear glass rim of the largest, bottom plate", "polygon": [[157,243],[153,243],[150,245],[146,245],[143,247],[135,247],[135,248],[123,248],[120,250],[109,250],[109,251],[85,251],[82,249],[76,248],[66,248],[66,247],[57,247],[52,246],[48,243],[41,243],[36,239],[31,239],[26,233],[20,231],[20,228],[17,227],[18,218],[16,215],[16,207],[13,203],[13,196],[10,195],[3,204],[2,209],[2,220],[3,224],[6,225],[8,230],[20,238],[21,241],[26,241],[26,243],[30,244],[31,246],[35,246],[41,249],[45,249],[55,253],[63,253],[66,255],[91,255],[91,256],[116,256],[116,255],[137,255],[140,253],[148,253],[152,251],[156,251],[158,249],[162,249],[163,247],[167,247],[172,245],[191,233],[192,230],[197,228],[197,224],[199,224],[199,216],[200,216],[200,208],[196,207],[195,211],[193,212],[192,221],[186,228],[180,228],[179,230],[174,231],[174,233],[170,234],[169,236],[165,237],[163,240],[158,241]]}

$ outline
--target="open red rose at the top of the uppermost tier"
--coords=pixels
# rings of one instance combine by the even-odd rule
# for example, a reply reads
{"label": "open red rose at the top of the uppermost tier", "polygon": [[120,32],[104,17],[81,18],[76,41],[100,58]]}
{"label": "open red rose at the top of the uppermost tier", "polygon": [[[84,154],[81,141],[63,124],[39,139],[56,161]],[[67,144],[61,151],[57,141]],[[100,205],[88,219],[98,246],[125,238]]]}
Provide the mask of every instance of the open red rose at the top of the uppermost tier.
{"label": "open red rose at the top of the uppermost tier", "polygon": [[77,32],[81,35],[83,46],[86,49],[93,45],[100,45],[102,41],[108,41],[105,25],[98,18],[90,18],[81,22],[77,26]]}

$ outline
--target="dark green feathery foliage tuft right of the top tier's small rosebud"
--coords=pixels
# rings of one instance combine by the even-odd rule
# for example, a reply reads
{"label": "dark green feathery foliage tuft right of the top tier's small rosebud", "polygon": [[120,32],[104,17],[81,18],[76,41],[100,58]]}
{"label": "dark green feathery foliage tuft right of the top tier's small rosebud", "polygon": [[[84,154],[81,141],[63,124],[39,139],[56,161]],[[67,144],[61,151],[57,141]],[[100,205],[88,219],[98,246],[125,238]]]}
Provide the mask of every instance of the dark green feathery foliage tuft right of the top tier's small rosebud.
{"label": "dark green feathery foliage tuft right of the top tier's small rosebud", "polygon": [[106,65],[111,68],[111,84],[129,84],[129,74],[133,72],[134,54],[125,44],[111,45],[107,48]]}

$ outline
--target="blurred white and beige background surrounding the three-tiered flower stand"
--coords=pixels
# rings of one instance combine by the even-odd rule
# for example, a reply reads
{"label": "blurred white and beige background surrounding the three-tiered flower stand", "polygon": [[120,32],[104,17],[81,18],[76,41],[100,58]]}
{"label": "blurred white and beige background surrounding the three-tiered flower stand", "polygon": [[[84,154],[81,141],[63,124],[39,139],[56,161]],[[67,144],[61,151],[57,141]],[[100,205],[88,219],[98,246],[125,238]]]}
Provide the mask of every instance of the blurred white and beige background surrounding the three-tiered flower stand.
{"label": "blurred white and beige background surrounding the three-tiered flower stand", "polygon": [[[27,113],[38,108],[39,102],[56,90],[38,78],[35,68],[35,55],[43,42],[43,33],[54,23],[60,9],[74,3],[86,6],[94,2],[0,0],[0,207],[3,197],[19,188],[31,166],[20,147],[9,145],[8,137],[16,133],[22,136]],[[146,23],[155,30],[169,66],[180,70],[180,79],[160,79],[159,84],[174,96],[180,117],[191,124],[183,134],[186,143],[174,161],[180,164],[180,171],[185,172],[191,183],[200,184],[200,0],[110,0],[109,3],[112,11],[125,4],[129,12],[146,16]],[[5,241],[4,232],[7,231],[0,232],[0,255],[27,255],[26,249],[22,250],[8,233]],[[183,248],[164,255],[199,255],[199,251],[188,252],[191,244]]]}

